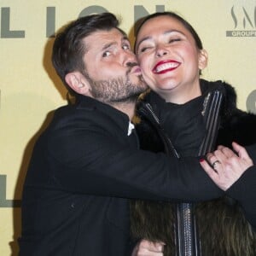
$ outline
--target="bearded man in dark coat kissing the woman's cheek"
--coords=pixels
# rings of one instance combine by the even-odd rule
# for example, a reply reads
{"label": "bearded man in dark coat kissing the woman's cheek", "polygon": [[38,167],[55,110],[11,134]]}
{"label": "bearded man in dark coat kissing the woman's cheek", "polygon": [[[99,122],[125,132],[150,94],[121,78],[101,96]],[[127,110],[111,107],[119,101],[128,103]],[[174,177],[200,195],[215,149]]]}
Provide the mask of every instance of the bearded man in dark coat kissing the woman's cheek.
{"label": "bearded man in dark coat kissing the woman's cheek", "polygon": [[35,145],[23,190],[20,256],[131,255],[129,198],[222,195],[198,160],[138,149],[130,120],[146,86],[114,15],[73,21],[56,36],[52,61],[76,102],[55,111]]}

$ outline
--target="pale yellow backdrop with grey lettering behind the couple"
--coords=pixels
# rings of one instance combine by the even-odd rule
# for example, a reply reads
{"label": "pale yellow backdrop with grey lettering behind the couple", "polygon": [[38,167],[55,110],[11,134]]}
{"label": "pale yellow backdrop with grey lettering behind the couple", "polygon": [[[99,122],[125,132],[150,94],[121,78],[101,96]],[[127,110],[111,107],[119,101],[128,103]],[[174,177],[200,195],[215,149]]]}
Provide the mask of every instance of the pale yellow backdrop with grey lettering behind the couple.
{"label": "pale yellow backdrop with grey lettering behind the couple", "polygon": [[233,84],[238,106],[256,113],[255,0],[1,0],[0,8],[0,255],[17,255],[21,188],[32,146],[49,112],[66,104],[49,56],[52,36],[68,21],[113,12],[132,38],[138,18],[177,11],[208,51],[204,78]]}

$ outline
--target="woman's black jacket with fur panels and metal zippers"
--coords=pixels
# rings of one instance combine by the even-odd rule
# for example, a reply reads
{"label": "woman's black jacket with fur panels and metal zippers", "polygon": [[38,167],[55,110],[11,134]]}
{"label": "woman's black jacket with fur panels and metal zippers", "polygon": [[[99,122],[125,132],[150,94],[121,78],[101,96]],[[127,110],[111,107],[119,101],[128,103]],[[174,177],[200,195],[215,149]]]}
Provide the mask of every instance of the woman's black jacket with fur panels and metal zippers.
{"label": "woman's black jacket with fur panels and metal zippers", "polygon": [[[170,108],[169,103],[154,92],[139,102],[137,113],[141,122],[137,125],[137,134],[141,147],[183,157],[205,154],[218,144],[230,146],[233,141],[242,145],[256,143],[256,116],[236,108],[236,93],[229,84],[201,80],[201,91],[202,96],[184,104],[181,111],[175,104]],[[216,91],[222,96],[219,105],[207,98]],[[218,106],[220,108],[216,109]],[[207,109],[209,112],[209,107],[210,112],[217,115],[210,114],[209,119],[202,117]],[[214,130],[212,133],[211,129]],[[210,145],[204,148],[202,145],[207,140],[211,141]],[[187,208],[186,204],[131,203],[131,230],[134,236],[165,241],[165,255],[255,255],[255,234],[247,222],[256,226],[253,169],[255,166],[227,191],[229,196],[217,201],[187,205]],[[244,194],[244,187],[250,188],[247,195]],[[185,209],[181,210],[184,206]],[[191,218],[192,237],[180,236],[189,233],[186,216]],[[239,242],[234,242],[234,237]],[[192,243],[186,239],[191,239]]]}

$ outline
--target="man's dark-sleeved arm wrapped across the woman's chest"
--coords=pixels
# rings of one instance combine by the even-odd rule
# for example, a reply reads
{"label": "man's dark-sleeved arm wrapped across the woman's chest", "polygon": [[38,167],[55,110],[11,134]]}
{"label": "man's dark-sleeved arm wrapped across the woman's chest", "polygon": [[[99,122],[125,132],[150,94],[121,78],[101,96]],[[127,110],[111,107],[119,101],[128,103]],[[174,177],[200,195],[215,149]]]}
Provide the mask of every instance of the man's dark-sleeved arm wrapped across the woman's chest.
{"label": "man's dark-sleeved arm wrapped across the woman's chest", "polygon": [[97,127],[52,135],[49,154],[63,189],[90,195],[207,201],[222,195],[195,158],[129,148]]}

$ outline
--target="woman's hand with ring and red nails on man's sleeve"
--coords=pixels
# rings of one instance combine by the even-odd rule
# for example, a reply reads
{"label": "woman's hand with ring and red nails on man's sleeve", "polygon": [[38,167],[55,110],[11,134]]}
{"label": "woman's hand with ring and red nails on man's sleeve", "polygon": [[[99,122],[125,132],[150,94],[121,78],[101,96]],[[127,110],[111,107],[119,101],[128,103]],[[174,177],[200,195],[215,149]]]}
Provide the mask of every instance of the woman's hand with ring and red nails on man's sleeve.
{"label": "woman's hand with ring and red nails on man's sleeve", "polygon": [[212,181],[224,191],[236,183],[247,168],[253,166],[253,160],[245,148],[237,143],[232,143],[232,147],[236,154],[230,148],[218,146],[217,150],[207,154],[207,160],[201,160],[203,169],[212,178]]}

